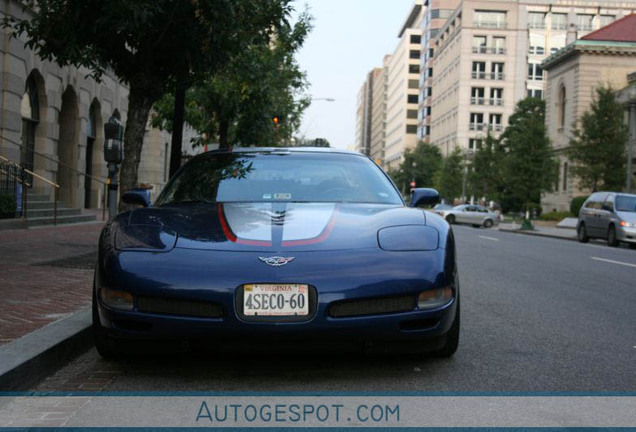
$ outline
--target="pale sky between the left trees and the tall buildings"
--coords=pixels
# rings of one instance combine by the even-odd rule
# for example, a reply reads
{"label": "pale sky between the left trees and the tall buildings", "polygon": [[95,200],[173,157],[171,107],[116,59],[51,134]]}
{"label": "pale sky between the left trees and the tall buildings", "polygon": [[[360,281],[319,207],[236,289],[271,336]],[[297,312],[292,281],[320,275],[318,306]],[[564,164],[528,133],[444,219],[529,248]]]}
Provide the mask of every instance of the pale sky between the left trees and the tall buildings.
{"label": "pale sky between the left trees and the tall buildings", "polygon": [[413,0],[298,0],[314,17],[314,29],[297,55],[313,101],[298,136],[326,138],[332,147],[354,144],[358,91],[366,74],[382,66],[398,44]]}

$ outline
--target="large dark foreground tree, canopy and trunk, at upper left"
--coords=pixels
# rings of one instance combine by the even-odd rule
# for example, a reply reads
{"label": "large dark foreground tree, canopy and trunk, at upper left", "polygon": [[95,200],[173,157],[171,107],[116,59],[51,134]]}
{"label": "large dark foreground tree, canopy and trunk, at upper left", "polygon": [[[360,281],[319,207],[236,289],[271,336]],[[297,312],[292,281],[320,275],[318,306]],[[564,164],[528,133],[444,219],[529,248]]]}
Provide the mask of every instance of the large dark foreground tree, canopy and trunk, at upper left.
{"label": "large dark foreground tree, canopy and trunk, at upper left", "polygon": [[254,44],[268,44],[286,25],[291,0],[28,0],[5,18],[14,36],[61,66],[112,70],[130,86],[122,190],[136,186],[152,105],[177,76],[223,67]]}

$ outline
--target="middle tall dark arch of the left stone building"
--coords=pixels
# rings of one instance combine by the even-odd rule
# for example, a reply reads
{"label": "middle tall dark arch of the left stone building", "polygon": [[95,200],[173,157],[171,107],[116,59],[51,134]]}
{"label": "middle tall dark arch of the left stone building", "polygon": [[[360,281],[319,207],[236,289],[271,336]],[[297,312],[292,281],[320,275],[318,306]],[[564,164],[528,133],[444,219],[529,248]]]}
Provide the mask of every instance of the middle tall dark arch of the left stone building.
{"label": "middle tall dark arch of the left stone building", "polygon": [[59,198],[66,205],[77,204],[77,160],[79,149],[79,106],[75,89],[67,86],[62,94],[59,115],[60,134],[57,144],[59,160],[57,182],[60,185]]}

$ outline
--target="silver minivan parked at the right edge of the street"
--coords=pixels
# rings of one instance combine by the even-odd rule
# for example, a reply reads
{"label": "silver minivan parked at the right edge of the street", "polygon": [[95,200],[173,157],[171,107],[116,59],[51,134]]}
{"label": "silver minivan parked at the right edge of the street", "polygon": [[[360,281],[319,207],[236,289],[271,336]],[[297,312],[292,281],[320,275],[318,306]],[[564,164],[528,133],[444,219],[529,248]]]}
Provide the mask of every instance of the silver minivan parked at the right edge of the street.
{"label": "silver minivan parked at the right edge of the street", "polygon": [[636,195],[593,193],[581,207],[577,233],[581,243],[601,238],[612,247],[625,242],[636,249]]}

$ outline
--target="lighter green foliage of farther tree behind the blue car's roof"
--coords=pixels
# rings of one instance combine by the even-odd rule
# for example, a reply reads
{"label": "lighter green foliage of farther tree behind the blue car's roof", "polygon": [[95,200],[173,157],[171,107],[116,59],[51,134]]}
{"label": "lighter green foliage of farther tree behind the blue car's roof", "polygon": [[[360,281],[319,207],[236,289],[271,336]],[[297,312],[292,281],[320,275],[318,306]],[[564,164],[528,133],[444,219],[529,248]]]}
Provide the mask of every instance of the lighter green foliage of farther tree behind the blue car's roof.
{"label": "lighter green foliage of farther tree behind the blue car's roof", "polygon": [[[291,139],[309,105],[305,73],[295,60],[311,30],[304,12],[280,26],[267,44],[246,47],[186,93],[185,119],[204,138],[233,144],[276,146]],[[174,97],[155,104],[152,124],[170,130]],[[275,124],[273,118],[278,117]]]}

